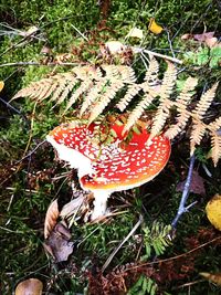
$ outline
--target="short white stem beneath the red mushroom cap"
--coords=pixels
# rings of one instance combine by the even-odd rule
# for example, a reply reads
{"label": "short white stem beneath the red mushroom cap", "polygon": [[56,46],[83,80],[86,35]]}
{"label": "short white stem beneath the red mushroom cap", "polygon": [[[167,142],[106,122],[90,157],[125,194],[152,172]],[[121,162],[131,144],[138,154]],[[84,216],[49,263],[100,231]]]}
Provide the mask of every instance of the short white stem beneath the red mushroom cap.
{"label": "short white stem beneath the red mushroom cap", "polygon": [[107,209],[107,199],[110,196],[108,191],[96,190],[94,191],[94,211],[92,212],[92,220],[104,217]]}

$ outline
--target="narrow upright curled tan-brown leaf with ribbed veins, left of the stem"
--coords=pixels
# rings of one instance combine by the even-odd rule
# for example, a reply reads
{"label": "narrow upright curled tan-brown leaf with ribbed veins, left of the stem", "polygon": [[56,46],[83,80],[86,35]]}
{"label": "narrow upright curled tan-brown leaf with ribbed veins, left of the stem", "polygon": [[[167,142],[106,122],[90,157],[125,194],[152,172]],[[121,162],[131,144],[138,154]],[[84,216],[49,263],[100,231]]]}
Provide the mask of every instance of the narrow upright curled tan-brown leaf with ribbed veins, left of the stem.
{"label": "narrow upright curled tan-brown leaf with ribbed veins, left of the stem", "polygon": [[44,239],[48,239],[54,226],[56,225],[57,218],[60,215],[57,199],[54,200],[46,210],[44,221]]}

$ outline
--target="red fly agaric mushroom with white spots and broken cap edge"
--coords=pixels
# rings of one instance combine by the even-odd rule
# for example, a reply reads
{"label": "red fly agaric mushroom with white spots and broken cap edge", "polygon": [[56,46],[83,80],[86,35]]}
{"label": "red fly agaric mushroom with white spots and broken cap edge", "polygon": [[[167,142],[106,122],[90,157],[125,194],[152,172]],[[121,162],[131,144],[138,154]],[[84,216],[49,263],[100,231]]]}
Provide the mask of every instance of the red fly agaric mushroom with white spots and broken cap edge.
{"label": "red fly agaric mushroom with white spots and broken cap edge", "polygon": [[[85,123],[61,125],[46,139],[56,149],[60,159],[78,169],[84,190],[94,193],[92,220],[106,212],[110,193],[139,187],[154,179],[166,166],[170,156],[170,141],[164,135],[156,136],[147,145],[149,134],[141,127],[133,131],[130,139],[124,134],[124,124],[112,124],[110,143],[97,140],[97,126]],[[99,135],[107,131],[99,127]]]}

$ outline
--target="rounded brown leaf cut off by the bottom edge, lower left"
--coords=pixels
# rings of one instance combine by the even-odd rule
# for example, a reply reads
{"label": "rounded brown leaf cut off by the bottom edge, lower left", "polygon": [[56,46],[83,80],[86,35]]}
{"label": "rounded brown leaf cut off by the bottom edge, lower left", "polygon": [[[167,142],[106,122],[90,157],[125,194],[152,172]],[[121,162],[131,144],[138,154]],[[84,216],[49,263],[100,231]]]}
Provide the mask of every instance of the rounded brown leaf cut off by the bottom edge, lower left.
{"label": "rounded brown leaf cut off by the bottom edge, lower left", "polygon": [[41,295],[43,284],[38,278],[29,278],[18,284],[15,295]]}

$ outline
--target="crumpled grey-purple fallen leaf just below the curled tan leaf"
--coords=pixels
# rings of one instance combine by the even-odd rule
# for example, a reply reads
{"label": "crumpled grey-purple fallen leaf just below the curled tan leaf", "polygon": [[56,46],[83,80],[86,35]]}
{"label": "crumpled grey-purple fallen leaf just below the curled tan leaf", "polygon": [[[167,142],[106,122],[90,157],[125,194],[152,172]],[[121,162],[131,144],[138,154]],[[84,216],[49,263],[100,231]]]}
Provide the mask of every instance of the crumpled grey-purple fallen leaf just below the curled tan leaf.
{"label": "crumpled grey-purple fallen leaf just below the curled tan leaf", "polygon": [[56,262],[67,261],[70,254],[72,254],[74,243],[70,242],[71,236],[69,229],[62,223],[57,223],[43,243],[44,249]]}

